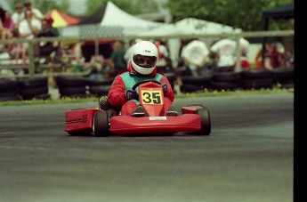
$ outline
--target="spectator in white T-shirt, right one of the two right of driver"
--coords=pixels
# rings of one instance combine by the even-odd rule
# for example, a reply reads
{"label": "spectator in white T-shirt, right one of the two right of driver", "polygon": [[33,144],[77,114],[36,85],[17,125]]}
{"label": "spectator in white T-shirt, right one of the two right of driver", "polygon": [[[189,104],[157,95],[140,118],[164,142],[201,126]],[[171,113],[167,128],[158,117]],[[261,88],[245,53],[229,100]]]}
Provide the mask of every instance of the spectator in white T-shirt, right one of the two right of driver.
{"label": "spectator in white T-shirt, right one of the two right of driver", "polygon": [[227,38],[226,35],[222,35],[221,40],[211,46],[213,57],[217,60],[215,69],[217,72],[234,70],[236,46],[237,43]]}

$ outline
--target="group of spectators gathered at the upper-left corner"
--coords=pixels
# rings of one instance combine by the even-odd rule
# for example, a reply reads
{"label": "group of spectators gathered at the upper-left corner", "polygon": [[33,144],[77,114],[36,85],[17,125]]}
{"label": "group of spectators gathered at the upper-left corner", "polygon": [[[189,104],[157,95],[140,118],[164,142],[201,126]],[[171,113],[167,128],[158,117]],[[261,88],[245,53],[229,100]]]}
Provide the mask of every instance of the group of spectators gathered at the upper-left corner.
{"label": "group of spectators gathered at the upper-left corner", "polygon": [[[15,4],[14,12],[10,13],[0,8],[0,36],[7,40],[12,38],[34,38],[59,36],[52,27],[53,19],[45,18],[43,13],[34,8],[29,1]],[[34,44],[35,56],[47,56],[56,51],[58,43]],[[28,43],[1,44],[1,52],[7,52],[13,64],[28,65]],[[14,69],[15,73],[23,74],[24,69]]]}

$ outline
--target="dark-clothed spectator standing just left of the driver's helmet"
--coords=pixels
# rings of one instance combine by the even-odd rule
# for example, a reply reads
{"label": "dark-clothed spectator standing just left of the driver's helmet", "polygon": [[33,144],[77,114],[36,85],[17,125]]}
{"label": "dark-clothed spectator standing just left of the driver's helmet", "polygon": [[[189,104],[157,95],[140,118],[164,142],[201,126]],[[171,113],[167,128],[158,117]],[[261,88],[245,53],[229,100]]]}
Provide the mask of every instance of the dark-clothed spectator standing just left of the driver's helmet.
{"label": "dark-clothed spectator standing just left of the driver's helmet", "polygon": [[113,44],[113,53],[111,54],[110,66],[114,70],[114,76],[122,69],[127,69],[125,61],[125,48],[122,41],[115,41]]}

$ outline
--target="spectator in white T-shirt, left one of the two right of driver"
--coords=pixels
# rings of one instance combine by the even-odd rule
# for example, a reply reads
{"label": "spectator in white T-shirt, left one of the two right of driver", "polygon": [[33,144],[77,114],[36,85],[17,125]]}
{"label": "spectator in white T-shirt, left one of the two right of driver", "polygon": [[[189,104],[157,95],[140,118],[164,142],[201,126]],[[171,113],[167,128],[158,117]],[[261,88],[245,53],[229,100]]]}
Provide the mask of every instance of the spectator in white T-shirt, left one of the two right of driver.
{"label": "spectator in white T-shirt, left one of the two right of driver", "polygon": [[209,61],[209,50],[204,42],[192,39],[189,44],[182,48],[181,57],[190,69],[192,76],[211,75],[211,71],[206,65],[206,62]]}

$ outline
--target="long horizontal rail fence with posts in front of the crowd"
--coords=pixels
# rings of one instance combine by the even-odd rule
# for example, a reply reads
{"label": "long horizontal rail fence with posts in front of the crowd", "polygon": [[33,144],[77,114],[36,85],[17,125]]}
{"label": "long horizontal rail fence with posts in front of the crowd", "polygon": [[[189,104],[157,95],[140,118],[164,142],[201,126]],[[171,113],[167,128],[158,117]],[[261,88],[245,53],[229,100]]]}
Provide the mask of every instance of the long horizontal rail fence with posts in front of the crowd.
{"label": "long horizontal rail fence with posts in front of the crowd", "polygon": [[[28,74],[22,76],[22,77],[41,77],[41,74],[36,74],[35,68],[36,68],[36,63],[35,63],[35,55],[34,55],[34,44],[40,43],[40,42],[71,42],[71,41],[76,41],[76,42],[82,42],[82,41],[95,41],[98,43],[100,40],[133,40],[136,38],[140,39],[156,39],[156,38],[163,38],[163,39],[171,39],[171,38],[180,38],[180,39],[189,39],[189,38],[214,38],[214,37],[221,37],[222,35],[172,35],[172,36],[164,36],[163,33],[161,33],[160,36],[70,36],[70,37],[39,37],[39,38],[33,38],[33,39],[25,39],[25,38],[12,38],[10,40],[0,40],[0,44],[15,44],[15,43],[28,43]],[[227,36],[234,38],[237,41],[237,52],[236,52],[236,57],[237,57],[237,67],[238,71],[241,70],[240,67],[240,53],[239,53],[239,37],[262,37],[263,38],[263,43],[265,42],[265,38],[267,37],[274,37],[274,36],[295,36],[295,30],[279,30],[279,31],[253,31],[253,32],[242,32],[239,34],[227,34]],[[0,60],[0,69],[10,69],[12,67],[16,67],[16,65],[8,65],[4,64]],[[20,65],[18,65],[20,66]],[[43,65],[43,68],[46,69],[55,69],[55,68],[66,68],[65,61],[64,63],[61,64],[55,64],[55,63],[50,63],[47,65]],[[82,73],[67,73],[64,70],[61,72],[54,72],[53,70],[50,71],[49,76],[57,76],[59,74],[65,74],[65,75],[83,75]],[[0,74],[0,77],[3,77]],[[15,76],[19,77],[19,76]]]}

